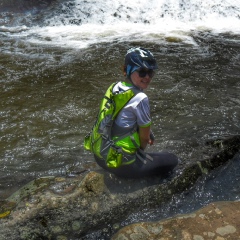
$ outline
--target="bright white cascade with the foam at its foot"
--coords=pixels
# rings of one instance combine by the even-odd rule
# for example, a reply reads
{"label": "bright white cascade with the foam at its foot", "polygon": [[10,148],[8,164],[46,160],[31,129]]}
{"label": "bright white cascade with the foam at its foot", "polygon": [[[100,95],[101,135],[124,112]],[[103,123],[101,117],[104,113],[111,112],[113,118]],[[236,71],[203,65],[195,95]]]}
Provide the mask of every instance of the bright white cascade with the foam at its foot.
{"label": "bright white cascade with the foam at its foot", "polygon": [[63,10],[45,27],[20,34],[38,44],[85,48],[113,40],[161,42],[166,36],[195,44],[192,30],[240,33],[239,0],[75,0]]}

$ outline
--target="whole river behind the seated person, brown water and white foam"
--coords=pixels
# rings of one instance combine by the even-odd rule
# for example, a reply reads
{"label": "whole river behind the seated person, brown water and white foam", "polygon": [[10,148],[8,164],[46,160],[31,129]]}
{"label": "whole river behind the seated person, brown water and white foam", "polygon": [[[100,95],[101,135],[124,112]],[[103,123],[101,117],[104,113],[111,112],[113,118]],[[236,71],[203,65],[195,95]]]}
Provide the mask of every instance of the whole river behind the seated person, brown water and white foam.
{"label": "whole river behind the seated person, brown water and white foam", "polygon": [[83,139],[132,46],[150,49],[159,65],[146,91],[149,150],[188,164],[207,157],[206,140],[240,134],[239,1],[19,3],[0,6],[1,198],[35,177],[98,168]]}

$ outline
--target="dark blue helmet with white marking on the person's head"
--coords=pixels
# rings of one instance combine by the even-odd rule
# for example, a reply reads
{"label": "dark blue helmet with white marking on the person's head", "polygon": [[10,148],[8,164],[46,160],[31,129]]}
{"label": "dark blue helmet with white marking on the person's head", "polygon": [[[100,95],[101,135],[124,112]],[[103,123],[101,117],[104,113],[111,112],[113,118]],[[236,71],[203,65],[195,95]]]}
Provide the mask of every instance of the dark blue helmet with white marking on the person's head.
{"label": "dark blue helmet with white marking on the person's head", "polygon": [[158,68],[153,54],[149,50],[141,47],[130,48],[127,51],[124,65],[127,77],[130,77],[130,75],[139,68],[151,70]]}

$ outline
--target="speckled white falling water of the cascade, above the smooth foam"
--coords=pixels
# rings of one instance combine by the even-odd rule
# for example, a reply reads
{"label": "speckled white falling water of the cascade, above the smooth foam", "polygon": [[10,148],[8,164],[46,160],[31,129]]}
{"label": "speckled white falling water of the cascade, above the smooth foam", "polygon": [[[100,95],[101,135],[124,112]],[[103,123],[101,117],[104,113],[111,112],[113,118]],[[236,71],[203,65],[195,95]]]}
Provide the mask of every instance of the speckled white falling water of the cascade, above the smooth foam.
{"label": "speckled white falling water of the cascade, above the smooth foam", "polygon": [[47,21],[54,26],[134,23],[155,25],[157,29],[162,29],[171,25],[176,27],[178,24],[196,23],[223,27],[220,20],[224,20],[226,24],[233,19],[239,20],[239,9],[237,0],[128,0],[124,4],[120,0],[75,0],[63,4],[62,13]]}

